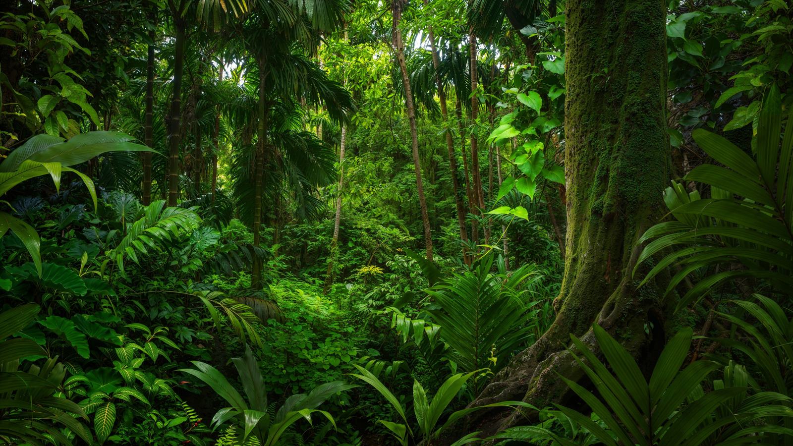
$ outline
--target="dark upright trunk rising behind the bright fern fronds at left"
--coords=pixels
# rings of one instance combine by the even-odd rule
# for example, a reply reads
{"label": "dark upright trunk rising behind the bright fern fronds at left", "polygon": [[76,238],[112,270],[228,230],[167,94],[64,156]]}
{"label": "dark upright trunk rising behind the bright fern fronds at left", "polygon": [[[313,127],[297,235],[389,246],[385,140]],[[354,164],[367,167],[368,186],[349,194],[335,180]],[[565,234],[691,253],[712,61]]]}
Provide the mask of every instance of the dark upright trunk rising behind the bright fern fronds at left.
{"label": "dark upright trunk rising behind the bright fern fronds at left", "polygon": [[[178,11],[181,14],[181,11]],[[182,117],[182,71],[185,59],[185,23],[174,15],[176,41],[174,53],[174,88],[170,102],[170,150],[168,152],[168,206],[179,199],[179,122]]]}

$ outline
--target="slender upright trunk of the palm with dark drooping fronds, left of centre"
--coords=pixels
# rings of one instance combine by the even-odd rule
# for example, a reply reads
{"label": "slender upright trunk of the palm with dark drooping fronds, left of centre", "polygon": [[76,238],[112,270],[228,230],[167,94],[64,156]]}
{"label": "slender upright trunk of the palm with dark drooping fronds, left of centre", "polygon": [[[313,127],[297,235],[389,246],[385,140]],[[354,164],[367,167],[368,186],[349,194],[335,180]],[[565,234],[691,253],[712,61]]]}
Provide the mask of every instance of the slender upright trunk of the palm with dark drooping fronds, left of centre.
{"label": "slender upright trunk of the palm with dark drooping fronds, left of centre", "polygon": [[[262,244],[262,199],[264,198],[264,156],[266,153],[267,140],[267,106],[265,98],[265,81],[267,71],[265,69],[266,56],[264,52],[259,53],[259,128],[256,132],[256,159],[254,163],[254,202],[253,202],[253,245],[259,248]],[[261,286],[262,282],[262,259],[259,255],[254,255],[253,274],[251,275],[251,286]]]}

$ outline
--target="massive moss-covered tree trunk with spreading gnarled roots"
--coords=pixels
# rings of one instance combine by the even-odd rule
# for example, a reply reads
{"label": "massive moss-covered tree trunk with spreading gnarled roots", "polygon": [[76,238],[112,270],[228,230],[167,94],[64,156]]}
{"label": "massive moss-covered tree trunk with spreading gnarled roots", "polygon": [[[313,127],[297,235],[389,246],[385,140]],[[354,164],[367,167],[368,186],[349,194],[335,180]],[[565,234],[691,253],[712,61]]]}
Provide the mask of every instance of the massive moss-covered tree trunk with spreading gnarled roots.
{"label": "massive moss-covered tree trunk with spreading gnarled roots", "polygon": [[[638,237],[664,215],[661,192],[672,170],[665,134],[665,3],[570,0],[566,11],[568,230],[565,273],[554,301],[558,313],[472,406],[517,399],[543,407],[569,400],[573,394],[557,374],[578,381],[584,372],[562,348],[569,334],[596,348],[592,323],[651,370],[676,304],[663,300],[668,277],[639,292],[646,265],[632,276],[642,251]],[[476,417],[472,430],[486,434],[518,424],[522,416],[482,410]]]}

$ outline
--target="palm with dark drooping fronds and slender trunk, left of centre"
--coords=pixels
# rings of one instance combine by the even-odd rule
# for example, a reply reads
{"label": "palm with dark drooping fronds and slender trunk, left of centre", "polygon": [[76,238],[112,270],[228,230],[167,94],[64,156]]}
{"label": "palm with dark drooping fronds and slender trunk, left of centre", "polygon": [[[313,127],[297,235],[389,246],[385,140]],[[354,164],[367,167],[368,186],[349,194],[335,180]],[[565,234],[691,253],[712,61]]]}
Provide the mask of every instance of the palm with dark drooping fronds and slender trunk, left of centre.
{"label": "palm with dark drooping fronds and slender trunk, left of centre", "polygon": [[[279,184],[288,184],[298,217],[310,218],[323,206],[312,196],[312,189],[335,179],[335,154],[312,133],[299,131],[301,104],[321,104],[333,121],[346,121],[347,111],[353,109],[352,98],[341,84],[328,79],[316,63],[297,52],[297,46],[271,44],[276,39],[262,37],[265,33],[262,29],[248,33],[253,38],[246,44],[261,43],[267,48],[255,52],[263,62],[248,66],[256,85],[254,77],[249,77],[251,82],[231,110],[240,128],[252,130],[255,125],[256,129],[254,150],[243,144],[244,153],[235,167],[236,195],[243,215],[251,216],[256,247],[262,243],[262,203],[280,200]],[[254,283],[261,280],[261,265],[261,260],[254,264]]]}

